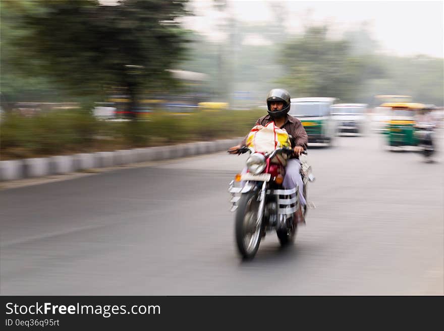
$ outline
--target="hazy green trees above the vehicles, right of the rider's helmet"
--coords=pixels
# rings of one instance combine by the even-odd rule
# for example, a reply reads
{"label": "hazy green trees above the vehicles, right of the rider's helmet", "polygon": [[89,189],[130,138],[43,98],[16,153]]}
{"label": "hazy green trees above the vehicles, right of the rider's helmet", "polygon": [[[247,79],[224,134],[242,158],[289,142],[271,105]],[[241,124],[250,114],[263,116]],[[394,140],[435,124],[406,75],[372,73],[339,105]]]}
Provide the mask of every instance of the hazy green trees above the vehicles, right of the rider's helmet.
{"label": "hazy green trees above the vehicles, right of the rider's helmet", "polygon": [[411,95],[413,100],[444,104],[444,60],[418,55],[386,56],[366,30],[330,39],[328,27],[308,27],[283,45],[286,76],[279,83],[295,97],[335,97],[341,102],[374,104],[375,95]]}

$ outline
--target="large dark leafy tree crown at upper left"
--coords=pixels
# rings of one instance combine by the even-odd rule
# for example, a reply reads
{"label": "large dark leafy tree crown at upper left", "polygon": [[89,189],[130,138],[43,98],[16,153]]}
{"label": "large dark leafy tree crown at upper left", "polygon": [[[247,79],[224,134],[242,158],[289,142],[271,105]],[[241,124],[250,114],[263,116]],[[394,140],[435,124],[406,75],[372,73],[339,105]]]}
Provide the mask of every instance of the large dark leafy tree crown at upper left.
{"label": "large dark leafy tree crown at upper left", "polygon": [[[130,97],[172,80],[165,71],[181,59],[186,39],[177,18],[187,0],[121,0],[103,6],[97,0],[35,0],[6,7],[20,14],[14,47],[21,59],[38,59],[48,75],[75,95],[103,95],[105,87],[122,87]],[[28,2],[29,3],[29,2]],[[16,61],[25,68],[24,61]],[[29,69],[29,66],[28,66]]]}

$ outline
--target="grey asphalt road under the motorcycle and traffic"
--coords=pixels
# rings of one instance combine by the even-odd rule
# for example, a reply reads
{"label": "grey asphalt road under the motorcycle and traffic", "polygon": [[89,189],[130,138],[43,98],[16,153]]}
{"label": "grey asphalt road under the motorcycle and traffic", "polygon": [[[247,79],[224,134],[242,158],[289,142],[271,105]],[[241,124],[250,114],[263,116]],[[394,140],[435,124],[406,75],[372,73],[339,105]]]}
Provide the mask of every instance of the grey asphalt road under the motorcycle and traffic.
{"label": "grey asphalt road under the motorcycle and traffic", "polygon": [[293,246],[268,233],[249,262],[227,191],[245,155],[4,186],[1,295],[443,295],[444,153],[382,146],[310,148],[317,208]]}

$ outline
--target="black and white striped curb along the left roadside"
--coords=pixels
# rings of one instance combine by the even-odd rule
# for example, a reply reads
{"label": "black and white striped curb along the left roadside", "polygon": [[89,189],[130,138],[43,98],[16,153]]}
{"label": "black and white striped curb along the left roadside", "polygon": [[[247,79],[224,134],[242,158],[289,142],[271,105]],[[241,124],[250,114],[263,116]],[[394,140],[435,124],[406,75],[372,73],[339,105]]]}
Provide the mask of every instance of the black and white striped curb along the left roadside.
{"label": "black and white striped curb along the left roadside", "polygon": [[242,139],[243,137],[114,152],[80,153],[47,158],[0,161],[0,181],[215,153],[228,150],[228,148],[239,144]]}

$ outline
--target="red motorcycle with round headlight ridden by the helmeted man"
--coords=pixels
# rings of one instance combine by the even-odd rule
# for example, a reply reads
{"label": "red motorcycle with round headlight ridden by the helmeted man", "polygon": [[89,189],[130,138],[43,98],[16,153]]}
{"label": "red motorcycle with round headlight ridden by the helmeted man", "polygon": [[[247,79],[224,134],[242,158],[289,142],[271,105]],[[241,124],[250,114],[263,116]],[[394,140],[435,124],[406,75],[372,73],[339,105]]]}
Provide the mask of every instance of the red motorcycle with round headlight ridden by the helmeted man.
{"label": "red motorcycle with round headlight ridden by the helmeted man", "polygon": [[[231,211],[236,211],[235,237],[241,256],[251,259],[255,256],[261,239],[266,232],[276,231],[279,242],[286,246],[294,242],[297,224],[294,212],[299,209],[298,188],[285,189],[285,156],[293,154],[293,149],[281,148],[270,153],[259,153],[251,147],[241,147],[237,154],[250,152],[246,161],[247,173],[237,174],[229,185],[232,194]],[[311,166],[306,160],[306,152],[299,156],[301,176],[304,183],[303,194],[307,197],[307,185],[314,180]],[[276,162],[276,160],[278,162]],[[281,160],[281,161],[280,161]],[[314,204],[311,203],[314,208]],[[304,217],[307,206],[303,208]]]}

